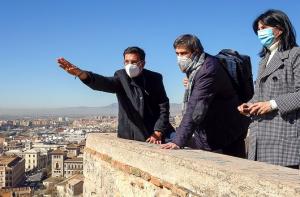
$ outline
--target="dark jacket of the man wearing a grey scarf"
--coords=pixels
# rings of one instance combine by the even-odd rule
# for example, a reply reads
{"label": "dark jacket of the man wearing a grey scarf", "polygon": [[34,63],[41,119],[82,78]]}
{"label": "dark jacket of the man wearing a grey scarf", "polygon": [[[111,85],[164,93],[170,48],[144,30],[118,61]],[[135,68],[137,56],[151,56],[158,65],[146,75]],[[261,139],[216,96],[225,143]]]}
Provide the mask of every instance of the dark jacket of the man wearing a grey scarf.
{"label": "dark jacket of the man wearing a grey scarf", "polygon": [[238,96],[224,68],[215,57],[206,54],[205,58],[173,142],[186,146],[194,134],[196,141],[208,146],[203,149],[216,150],[244,137],[248,120],[237,110]]}

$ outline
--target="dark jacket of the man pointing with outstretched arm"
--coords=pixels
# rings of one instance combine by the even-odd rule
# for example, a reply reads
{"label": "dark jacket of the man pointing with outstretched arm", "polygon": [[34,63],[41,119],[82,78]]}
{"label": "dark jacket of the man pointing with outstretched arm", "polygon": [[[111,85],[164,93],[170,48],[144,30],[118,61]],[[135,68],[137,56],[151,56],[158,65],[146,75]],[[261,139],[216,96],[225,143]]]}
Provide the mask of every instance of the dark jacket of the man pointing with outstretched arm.
{"label": "dark jacket of the man pointing with outstretched arm", "polygon": [[145,141],[154,131],[169,132],[170,105],[161,74],[144,69],[131,79],[121,69],[113,77],[89,76],[83,82],[90,88],[117,95],[118,137]]}

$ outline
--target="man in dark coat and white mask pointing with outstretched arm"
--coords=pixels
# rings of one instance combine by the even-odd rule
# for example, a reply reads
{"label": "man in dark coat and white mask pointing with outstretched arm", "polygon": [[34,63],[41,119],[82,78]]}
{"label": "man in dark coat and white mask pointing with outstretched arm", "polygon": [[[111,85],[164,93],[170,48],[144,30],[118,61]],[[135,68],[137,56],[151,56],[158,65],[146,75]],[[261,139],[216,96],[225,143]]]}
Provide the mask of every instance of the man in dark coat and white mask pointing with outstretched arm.
{"label": "man in dark coat and white mask pointing with outstretched arm", "polygon": [[58,63],[90,88],[117,95],[118,137],[160,144],[172,131],[162,76],[144,69],[145,52],[139,47],[128,47],[123,57],[125,67],[113,77],[83,71],[64,58]]}

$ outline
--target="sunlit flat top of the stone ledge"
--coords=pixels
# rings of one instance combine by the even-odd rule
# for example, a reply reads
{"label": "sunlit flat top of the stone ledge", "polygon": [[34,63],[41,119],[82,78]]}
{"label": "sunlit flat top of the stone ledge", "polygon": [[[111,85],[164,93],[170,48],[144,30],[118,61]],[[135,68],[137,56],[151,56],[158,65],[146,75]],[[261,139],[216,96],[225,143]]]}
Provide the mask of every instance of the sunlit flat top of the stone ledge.
{"label": "sunlit flat top of the stone ledge", "polygon": [[86,148],[195,191],[201,182],[250,193],[255,190],[256,194],[300,196],[300,171],[295,169],[201,150],[164,150],[160,145],[125,140],[111,133],[89,134]]}

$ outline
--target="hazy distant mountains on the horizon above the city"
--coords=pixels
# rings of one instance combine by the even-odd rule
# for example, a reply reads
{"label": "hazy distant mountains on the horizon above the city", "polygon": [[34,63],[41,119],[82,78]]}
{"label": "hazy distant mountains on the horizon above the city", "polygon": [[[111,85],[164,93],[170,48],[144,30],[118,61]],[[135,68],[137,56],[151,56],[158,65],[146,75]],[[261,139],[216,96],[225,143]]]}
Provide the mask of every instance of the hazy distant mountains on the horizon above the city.
{"label": "hazy distant mountains on the horizon above the city", "polygon": [[[171,115],[181,113],[181,104],[171,103]],[[65,108],[36,108],[36,109],[9,109],[0,108],[0,119],[36,118],[36,117],[81,117],[118,115],[118,104],[113,103],[103,107],[65,107]]]}

